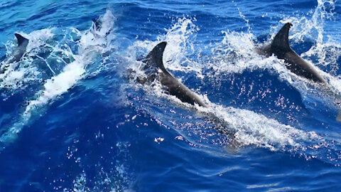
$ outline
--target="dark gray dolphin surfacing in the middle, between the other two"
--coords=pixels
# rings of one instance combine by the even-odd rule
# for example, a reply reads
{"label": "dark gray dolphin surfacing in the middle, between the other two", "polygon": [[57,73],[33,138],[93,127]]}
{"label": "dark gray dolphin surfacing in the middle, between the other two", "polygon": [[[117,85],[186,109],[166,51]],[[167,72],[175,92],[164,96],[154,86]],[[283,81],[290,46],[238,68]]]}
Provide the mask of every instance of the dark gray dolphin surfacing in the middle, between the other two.
{"label": "dark gray dolphin surfacing in the middle, between the other two", "polygon": [[138,79],[138,81],[144,83],[146,81],[151,81],[155,78],[158,78],[161,84],[166,87],[166,91],[169,93],[169,95],[175,95],[175,97],[178,97],[178,99],[182,102],[188,102],[192,105],[196,103],[197,105],[206,107],[205,103],[202,102],[202,100],[200,100],[200,98],[197,97],[194,92],[183,85],[183,83],[175,79],[174,76],[171,75],[171,73],[169,73],[164,67],[162,59],[163,51],[165,50],[166,45],[166,42],[158,43],[158,45],[151,50],[146,58],[142,60],[142,62],[146,63],[144,70],[147,71],[147,73],[148,70],[153,71],[151,68],[156,68],[157,72],[154,73],[155,71],[153,71],[153,74],[147,74],[148,78],[145,78],[144,80]]}

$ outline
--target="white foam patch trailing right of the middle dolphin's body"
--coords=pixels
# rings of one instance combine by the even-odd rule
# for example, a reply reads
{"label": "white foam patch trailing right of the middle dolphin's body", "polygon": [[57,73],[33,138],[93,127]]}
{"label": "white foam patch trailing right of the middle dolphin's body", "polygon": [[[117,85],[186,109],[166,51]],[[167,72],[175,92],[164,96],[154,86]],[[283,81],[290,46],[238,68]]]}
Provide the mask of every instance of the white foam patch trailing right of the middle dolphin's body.
{"label": "white foam patch trailing right of the middle dolphin's body", "polygon": [[249,110],[211,103],[207,112],[212,112],[227,122],[229,129],[236,131],[236,140],[245,146],[255,145],[276,151],[286,148],[301,149],[304,142],[322,140],[315,132],[304,132]]}

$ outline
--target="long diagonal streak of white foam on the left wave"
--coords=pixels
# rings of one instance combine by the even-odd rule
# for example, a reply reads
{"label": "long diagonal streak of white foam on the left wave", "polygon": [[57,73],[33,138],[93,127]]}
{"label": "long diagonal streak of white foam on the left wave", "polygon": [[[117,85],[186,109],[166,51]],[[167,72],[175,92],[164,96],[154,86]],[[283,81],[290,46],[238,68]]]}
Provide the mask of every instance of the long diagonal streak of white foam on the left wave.
{"label": "long diagonal streak of white foam on the left wave", "polygon": [[[21,119],[1,135],[0,142],[4,142],[4,144],[13,142],[18,132],[21,132],[23,126],[31,119],[35,110],[40,109],[43,105],[48,104],[51,100],[67,92],[78,80],[82,79],[86,73],[87,65],[91,64],[97,55],[109,49],[109,43],[114,38],[113,35],[110,35],[114,27],[114,16],[111,11],[107,11],[100,20],[102,21],[102,27],[99,31],[90,29],[89,31],[80,32],[74,29],[81,36],[78,43],[78,54],[74,55],[70,49],[63,50],[68,51],[67,55],[72,55],[74,61],[65,65],[61,73],[45,81],[43,90],[40,90],[36,94],[35,100],[28,101],[28,105],[25,112],[21,115]],[[34,47],[30,46],[30,48]]]}

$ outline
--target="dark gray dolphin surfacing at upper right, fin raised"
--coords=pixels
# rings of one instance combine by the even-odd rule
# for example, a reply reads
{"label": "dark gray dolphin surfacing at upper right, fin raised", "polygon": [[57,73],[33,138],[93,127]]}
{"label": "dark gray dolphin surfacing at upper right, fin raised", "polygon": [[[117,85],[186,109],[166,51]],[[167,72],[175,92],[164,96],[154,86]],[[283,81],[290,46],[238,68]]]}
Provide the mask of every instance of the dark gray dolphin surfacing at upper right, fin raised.
{"label": "dark gray dolphin surfacing at upper right, fin raised", "polygon": [[256,53],[260,55],[266,55],[266,57],[272,54],[276,55],[277,58],[283,59],[288,65],[286,68],[292,73],[301,77],[313,80],[314,82],[326,83],[325,79],[318,73],[315,66],[308,63],[301,58],[289,45],[289,30],[293,26],[291,23],[286,23],[280,31],[276,34],[274,40],[266,46],[256,48]]}

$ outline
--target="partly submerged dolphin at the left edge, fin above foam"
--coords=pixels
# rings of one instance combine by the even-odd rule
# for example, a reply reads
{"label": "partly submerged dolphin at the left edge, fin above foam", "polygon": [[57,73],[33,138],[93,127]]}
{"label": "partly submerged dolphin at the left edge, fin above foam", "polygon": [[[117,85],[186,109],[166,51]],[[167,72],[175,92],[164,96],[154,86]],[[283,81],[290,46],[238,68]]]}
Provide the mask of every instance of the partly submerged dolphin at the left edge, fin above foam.
{"label": "partly submerged dolphin at the left edge, fin above foam", "polygon": [[8,68],[11,63],[18,62],[19,60],[21,60],[23,54],[26,53],[28,39],[24,38],[18,33],[15,33],[14,36],[16,36],[16,40],[18,41],[18,47],[16,48],[16,50],[13,51],[13,54],[9,56],[9,58],[5,58],[1,62],[0,73],[4,73],[6,68]]}

